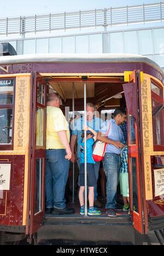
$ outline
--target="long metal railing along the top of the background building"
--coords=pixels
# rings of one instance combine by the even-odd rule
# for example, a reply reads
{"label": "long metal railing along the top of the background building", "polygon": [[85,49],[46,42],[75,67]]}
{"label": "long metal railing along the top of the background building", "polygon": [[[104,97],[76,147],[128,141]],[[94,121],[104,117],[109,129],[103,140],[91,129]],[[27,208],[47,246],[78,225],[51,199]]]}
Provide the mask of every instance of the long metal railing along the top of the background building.
{"label": "long metal railing along the top of the background building", "polygon": [[0,34],[113,26],[164,20],[164,2],[0,19]]}

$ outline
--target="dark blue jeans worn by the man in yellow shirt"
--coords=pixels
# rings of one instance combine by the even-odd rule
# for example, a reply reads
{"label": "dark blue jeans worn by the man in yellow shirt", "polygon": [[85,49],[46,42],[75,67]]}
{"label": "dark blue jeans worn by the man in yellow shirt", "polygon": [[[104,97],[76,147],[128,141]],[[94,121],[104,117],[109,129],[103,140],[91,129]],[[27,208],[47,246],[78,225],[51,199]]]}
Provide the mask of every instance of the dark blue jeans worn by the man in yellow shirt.
{"label": "dark blue jeans worn by the man in yellow shirt", "polygon": [[46,150],[45,161],[45,207],[66,207],[65,188],[69,173],[66,149]]}

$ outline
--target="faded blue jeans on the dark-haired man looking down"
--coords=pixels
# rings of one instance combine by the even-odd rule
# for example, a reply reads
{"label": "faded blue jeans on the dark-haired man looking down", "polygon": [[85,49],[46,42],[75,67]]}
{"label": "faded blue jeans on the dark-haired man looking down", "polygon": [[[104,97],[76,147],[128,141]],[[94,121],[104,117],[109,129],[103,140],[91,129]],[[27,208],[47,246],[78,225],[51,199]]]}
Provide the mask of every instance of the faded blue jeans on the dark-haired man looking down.
{"label": "faded blue jeans on the dark-haired man looking down", "polygon": [[116,205],[116,191],[119,183],[119,172],[121,166],[120,155],[115,153],[106,153],[103,159],[103,168],[106,173],[106,208],[115,209]]}

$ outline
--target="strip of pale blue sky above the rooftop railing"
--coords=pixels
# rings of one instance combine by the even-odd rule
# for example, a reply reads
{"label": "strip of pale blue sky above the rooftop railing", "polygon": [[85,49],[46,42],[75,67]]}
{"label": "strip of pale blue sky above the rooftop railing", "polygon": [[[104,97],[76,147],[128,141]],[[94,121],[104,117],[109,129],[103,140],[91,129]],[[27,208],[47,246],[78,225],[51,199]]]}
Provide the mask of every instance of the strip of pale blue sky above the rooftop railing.
{"label": "strip of pale blue sky above the rooftop railing", "polygon": [[64,11],[102,9],[142,3],[156,3],[155,0],[0,0],[0,17],[60,13]]}

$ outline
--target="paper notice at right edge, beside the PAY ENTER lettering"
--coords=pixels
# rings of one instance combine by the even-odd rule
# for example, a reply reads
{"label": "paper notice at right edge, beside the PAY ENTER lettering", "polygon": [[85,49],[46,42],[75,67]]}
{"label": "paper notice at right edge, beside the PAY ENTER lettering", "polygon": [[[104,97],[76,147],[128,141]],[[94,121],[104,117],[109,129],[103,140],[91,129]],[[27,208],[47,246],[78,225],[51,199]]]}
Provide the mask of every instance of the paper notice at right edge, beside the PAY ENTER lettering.
{"label": "paper notice at right edge, beside the PAY ENTER lettering", "polygon": [[154,170],[155,196],[164,194],[164,168]]}

